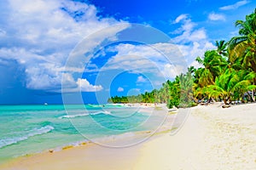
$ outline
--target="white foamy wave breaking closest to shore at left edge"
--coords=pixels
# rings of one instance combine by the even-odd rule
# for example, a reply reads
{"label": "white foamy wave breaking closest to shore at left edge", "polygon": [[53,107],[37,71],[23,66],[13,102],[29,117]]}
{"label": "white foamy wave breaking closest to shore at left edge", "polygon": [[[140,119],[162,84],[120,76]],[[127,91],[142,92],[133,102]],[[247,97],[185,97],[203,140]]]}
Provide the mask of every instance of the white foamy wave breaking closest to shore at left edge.
{"label": "white foamy wave breaking closest to shore at left edge", "polygon": [[32,136],[44,134],[44,133],[49,133],[51,130],[53,130],[54,127],[51,126],[45,126],[45,127],[40,127],[40,128],[34,128],[30,131],[27,131],[27,134],[24,136],[20,137],[14,137],[14,138],[7,138],[7,139],[0,139],[0,148],[3,148],[4,146],[11,145],[11,144],[16,144],[22,140],[26,140]]}

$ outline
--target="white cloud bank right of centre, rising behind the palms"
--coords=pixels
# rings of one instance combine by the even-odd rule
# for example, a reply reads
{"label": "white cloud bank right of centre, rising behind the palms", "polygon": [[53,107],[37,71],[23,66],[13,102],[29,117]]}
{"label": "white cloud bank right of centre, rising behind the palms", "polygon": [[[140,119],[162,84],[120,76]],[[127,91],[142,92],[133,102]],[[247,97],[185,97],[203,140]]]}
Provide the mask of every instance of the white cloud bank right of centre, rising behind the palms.
{"label": "white cloud bank right of centre, rising behind the palms", "polygon": [[[177,45],[171,42],[155,43],[150,46],[120,43],[107,49],[117,54],[108,59],[100,71],[121,70],[140,73],[156,84],[160,82],[160,77],[170,79],[187,71],[187,67],[197,56],[203,56],[206,50],[215,48],[207,39],[205,28],[196,28],[195,22],[190,20],[188,15],[180,15],[175,23],[181,25],[175,32],[177,37],[172,39]],[[137,82],[142,81],[143,77],[137,78]]]}

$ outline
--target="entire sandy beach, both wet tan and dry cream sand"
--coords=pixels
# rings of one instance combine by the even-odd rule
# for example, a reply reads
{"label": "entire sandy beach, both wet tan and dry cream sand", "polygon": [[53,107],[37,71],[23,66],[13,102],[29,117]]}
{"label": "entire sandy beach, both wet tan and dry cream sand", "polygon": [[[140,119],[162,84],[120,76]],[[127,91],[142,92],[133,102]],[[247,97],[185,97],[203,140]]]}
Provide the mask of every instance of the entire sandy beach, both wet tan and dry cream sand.
{"label": "entire sandy beach, both wet tan and dry cream sand", "polygon": [[256,104],[221,105],[190,108],[177,133],[132,147],[90,143],[20,157],[0,169],[256,169]]}

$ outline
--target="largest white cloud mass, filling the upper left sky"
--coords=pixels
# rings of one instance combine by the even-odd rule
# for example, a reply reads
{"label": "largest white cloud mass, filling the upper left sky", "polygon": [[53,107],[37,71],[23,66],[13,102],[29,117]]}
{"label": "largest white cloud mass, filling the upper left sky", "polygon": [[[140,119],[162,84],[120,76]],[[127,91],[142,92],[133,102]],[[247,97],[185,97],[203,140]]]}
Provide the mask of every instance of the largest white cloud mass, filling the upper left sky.
{"label": "largest white cloud mass, filling the upper left sky", "polygon": [[[98,17],[94,5],[69,0],[9,0],[0,5],[0,59],[15,59],[22,65],[26,88],[31,89],[59,91],[65,71],[83,71],[75,65],[65,69],[75,45],[95,31],[120,23]],[[110,35],[122,29],[125,27],[113,29]],[[99,36],[109,32],[104,33]],[[103,40],[97,38],[88,44]]]}

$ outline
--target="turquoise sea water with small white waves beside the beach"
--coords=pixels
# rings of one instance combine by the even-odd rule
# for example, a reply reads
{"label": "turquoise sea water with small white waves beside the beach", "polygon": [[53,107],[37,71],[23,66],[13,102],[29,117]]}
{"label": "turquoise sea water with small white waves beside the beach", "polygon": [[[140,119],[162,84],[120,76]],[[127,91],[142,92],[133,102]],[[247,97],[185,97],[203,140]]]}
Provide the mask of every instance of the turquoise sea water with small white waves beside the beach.
{"label": "turquoise sea water with small white waves beside the beach", "polygon": [[0,162],[13,157],[148,130],[148,113],[119,105],[1,105]]}

